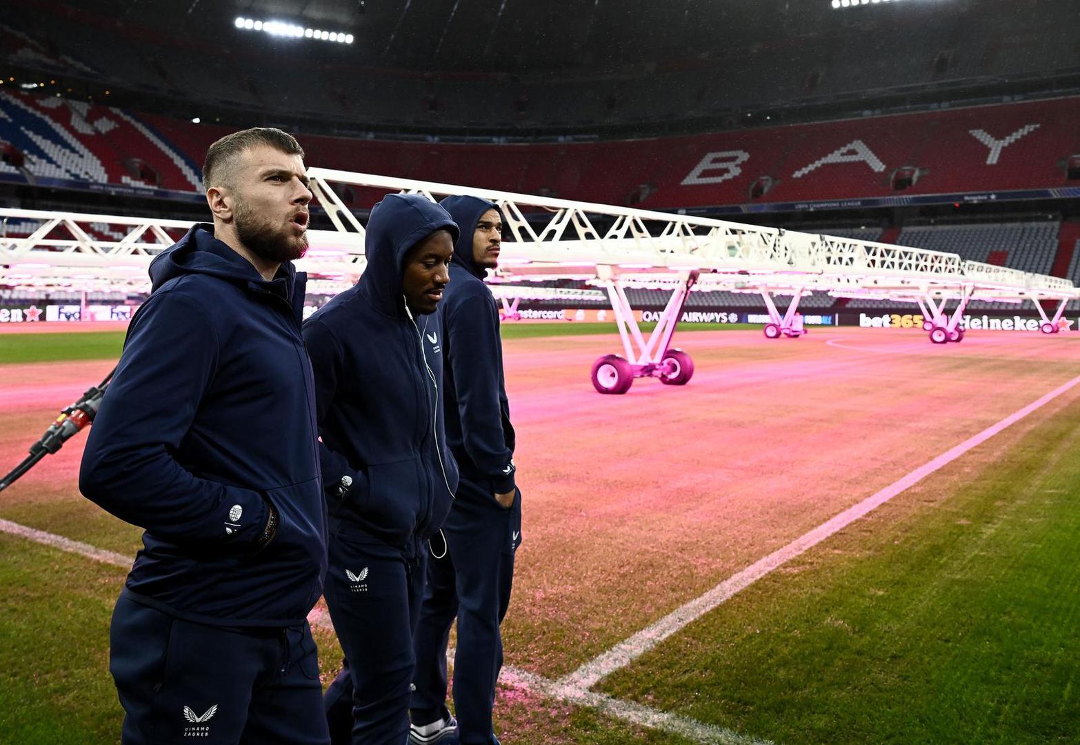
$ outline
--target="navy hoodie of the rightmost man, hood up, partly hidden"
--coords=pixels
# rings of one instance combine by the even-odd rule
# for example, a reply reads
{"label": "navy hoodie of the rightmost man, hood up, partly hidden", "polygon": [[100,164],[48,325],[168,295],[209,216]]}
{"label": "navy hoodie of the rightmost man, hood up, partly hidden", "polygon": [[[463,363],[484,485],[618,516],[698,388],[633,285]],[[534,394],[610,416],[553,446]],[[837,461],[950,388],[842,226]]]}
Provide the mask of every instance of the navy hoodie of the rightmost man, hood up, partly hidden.
{"label": "navy hoodie of the rightmost man, hood up, partly hidden", "polygon": [[[473,263],[473,232],[481,215],[498,207],[475,197],[440,202],[461,234],[454,245],[450,284],[443,293],[446,355],[446,437],[461,474],[489,480],[492,491],[514,488],[514,428],[502,372],[499,307]],[[494,497],[494,495],[492,495]]]}

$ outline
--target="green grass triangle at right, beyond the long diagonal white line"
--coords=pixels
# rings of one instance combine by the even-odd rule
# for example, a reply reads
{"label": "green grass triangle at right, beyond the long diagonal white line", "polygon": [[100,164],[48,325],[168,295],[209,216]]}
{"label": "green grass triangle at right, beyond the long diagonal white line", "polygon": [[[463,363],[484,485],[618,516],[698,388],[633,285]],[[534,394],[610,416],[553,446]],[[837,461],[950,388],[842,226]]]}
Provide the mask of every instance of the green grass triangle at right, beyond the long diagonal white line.
{"label": "green grass triangle at right, beyond the long diagonal white line", "polygon": [[1002,437],[600,688],[788,744],[1078,742],[1080,404]]}

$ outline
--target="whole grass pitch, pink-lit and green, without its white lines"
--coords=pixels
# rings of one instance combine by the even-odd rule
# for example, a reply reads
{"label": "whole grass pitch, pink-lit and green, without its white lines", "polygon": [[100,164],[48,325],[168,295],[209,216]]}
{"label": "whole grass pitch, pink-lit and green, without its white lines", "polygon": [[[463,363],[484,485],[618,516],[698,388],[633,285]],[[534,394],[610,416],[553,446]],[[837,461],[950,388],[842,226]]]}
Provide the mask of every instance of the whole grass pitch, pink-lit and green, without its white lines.
{"label": "whole grass pitch, pink-lit and green, without its white lines", "polygon": [[[678,334],[690,329],[707,330]],[[924,335],[882,329],[777,342],[759,331],[694,334],[678,339],[698,365],[690,385],[642,380],[626,396],[598,396],[589,365],[618,349],[613,324],[503,333],[526,500],[507,662],[550,678],[1080,364],[1080,343],[1038,335],[972,334],[936,348]],[[607,337],[559,338],[596,333]],[[63,336],[0,337],[0,358],[18,361],[0,367],[4,464],[100,378],[94,366],[105,369],[122,343],[113,333],[91,351],[97,334]],[[59,362],[71,358],[100,362]],[[1076,742],[1077,422],[1080,389],[597,690],[778,743]],[[82,442],[0,495],[0,517],[133,556],[139,531],[77,492]],[[4,534],[0,555],[0,742],[116,742],[108,623],[124,570]],[[327,632],[316,639],[328,682],[340,648]],[[507,745],[690,742],[509,688],[496,729]]]}

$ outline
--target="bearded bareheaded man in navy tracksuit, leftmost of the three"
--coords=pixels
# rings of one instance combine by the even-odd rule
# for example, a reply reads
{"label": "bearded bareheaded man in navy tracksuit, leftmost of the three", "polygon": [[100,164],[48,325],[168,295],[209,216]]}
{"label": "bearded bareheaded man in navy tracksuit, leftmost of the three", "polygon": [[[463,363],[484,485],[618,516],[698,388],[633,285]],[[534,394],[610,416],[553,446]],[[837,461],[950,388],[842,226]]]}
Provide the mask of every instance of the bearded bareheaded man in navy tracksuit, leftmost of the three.
{"label": "bearded bareheaded man in navy tracksuit, leftmost of the three", "polygon": [[211,147],[214,225],[153,260],[86,442],[83,495],[146,529],[110,634],[125,745],[328,742],[302,157],[279,130]]}

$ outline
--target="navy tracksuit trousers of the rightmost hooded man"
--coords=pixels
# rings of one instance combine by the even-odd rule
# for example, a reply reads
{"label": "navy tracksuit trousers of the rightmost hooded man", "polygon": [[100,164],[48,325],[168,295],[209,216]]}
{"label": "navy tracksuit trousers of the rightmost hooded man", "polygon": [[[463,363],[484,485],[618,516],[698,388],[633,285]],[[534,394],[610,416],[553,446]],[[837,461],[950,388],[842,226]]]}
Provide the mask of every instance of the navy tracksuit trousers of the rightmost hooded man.
{"label": "navy tracksuit trousers of the rightmost hooded man", "polygon": [[446,645],[454,620],[454,710],[462,745],[491,742],[491,707],[502,667],[502,623],[510,606],[514,553],[522,541],[522,493],[505,510],[490,482],[462,477],[443,525],[448,551],[428,565],[428,586],[415,637],[413,721],[448,716]]}

